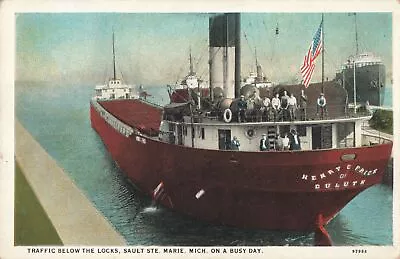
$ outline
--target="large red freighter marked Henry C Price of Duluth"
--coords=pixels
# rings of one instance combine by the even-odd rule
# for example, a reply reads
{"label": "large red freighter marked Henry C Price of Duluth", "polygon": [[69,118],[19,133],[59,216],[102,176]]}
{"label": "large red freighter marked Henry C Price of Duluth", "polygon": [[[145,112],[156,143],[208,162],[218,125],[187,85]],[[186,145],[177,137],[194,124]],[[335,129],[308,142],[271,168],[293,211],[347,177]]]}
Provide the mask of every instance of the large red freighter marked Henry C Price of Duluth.
{"label": "large red freighter marked Henry C Price of Duluth", "polygon": [[[347,203],[382,181],[392,142],[366,140],[362,124],[371,115],[349,114],[347,94],[335,81],[323,83],[329,116],[316,116],[309,105],[306,120],[258,120],[249,110],[239,121],[240,53],[240,15],[211,16],[207,91],[179,102],[171,92],[164,107],[98,92],[90,103],[91,125],[130,181],[167,208],[223,225],[324,233]],[[114,72],[110,82],[116,80]],[[270,91],[305,90],[316,100],[319,86]],[[275,150],[275,137],[293,130],[301,150]],[[264,134],[269,149],[261,152]]]}

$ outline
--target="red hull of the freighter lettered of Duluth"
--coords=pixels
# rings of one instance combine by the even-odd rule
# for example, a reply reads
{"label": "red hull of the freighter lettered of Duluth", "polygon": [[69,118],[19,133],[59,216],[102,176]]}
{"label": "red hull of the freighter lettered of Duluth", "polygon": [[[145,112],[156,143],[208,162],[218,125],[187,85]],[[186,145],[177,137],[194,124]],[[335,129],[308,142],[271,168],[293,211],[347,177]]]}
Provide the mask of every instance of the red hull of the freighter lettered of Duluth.
{"label": "red hull of the freighter lettered of Duluth", "polygon": [[[392,148],[388,143],[298,152],[193,149],[126,137],[93,105],[90,115],[112,158],[139,189],[151,195],[162,181],[164,206],[239,227],[313,230],[319,214],[326,224],[357,194],[381,182]],[[343,154],[356,158],[342,161]],[[204,194],[196,198],[200,190]]]}

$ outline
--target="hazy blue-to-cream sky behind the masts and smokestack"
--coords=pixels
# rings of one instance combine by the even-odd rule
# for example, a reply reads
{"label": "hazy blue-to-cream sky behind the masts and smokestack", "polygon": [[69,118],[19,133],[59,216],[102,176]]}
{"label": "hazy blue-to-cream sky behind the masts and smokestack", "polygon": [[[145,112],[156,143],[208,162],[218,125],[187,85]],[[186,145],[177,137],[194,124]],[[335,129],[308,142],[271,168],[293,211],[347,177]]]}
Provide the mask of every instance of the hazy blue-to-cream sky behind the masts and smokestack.
{"label": "hazy blue-to-cream sky behind the masts and smokestack", "polygon": [[[206,13],[24,13],[16,16],[16,79],[100,84],[112,74],[112,31],[117,72],[127,83],[174,83],[189,69],[208,80]],[[299,68],[321,21],[320,13],[243,13],[242,75],[259,63],[267,77],[299,78]],[[355,53],[354,16],[325,13],[325,73],[332,78]],[[382,57],[392,71],[391,13],[358,13],[360,52]],[[275,34],[276,27],[279,34]],[[245,36],[246,35],[246,36]],[[321,79],[321,57],[312,81]]]}

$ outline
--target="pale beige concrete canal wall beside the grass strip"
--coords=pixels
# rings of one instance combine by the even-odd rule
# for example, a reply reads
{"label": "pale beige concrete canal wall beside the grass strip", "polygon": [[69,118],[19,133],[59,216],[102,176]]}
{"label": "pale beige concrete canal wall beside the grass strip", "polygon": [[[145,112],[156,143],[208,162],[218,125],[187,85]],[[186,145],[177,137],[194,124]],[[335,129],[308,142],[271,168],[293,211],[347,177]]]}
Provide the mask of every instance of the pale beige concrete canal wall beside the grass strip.
{"label": "pale beige concrete canal wall beside the grass strip", "polygon": [[56,161],[19,123],[15,157],[64,245],[126,245]]}

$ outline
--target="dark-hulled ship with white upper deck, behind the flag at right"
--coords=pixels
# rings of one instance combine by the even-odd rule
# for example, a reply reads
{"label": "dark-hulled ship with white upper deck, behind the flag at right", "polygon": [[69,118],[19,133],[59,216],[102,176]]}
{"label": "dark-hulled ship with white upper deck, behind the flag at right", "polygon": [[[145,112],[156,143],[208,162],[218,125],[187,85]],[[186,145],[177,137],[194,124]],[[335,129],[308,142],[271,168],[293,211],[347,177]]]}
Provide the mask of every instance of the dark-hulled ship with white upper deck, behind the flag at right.
{"label": "dark-hulled ship with white upper deck, behind the flag at right", "polygon": [[[358,46],[357,15],[354,15],[356,53],[336,73],[336,81],[346,89],[353,105],[380,107],[384,103],[386,68],[382,59],[371,52],[360,53]],[[354,92],[356,93],[354,95]]]}

